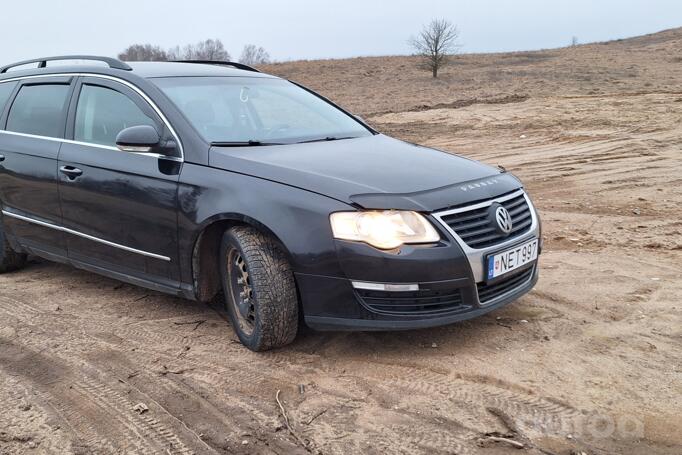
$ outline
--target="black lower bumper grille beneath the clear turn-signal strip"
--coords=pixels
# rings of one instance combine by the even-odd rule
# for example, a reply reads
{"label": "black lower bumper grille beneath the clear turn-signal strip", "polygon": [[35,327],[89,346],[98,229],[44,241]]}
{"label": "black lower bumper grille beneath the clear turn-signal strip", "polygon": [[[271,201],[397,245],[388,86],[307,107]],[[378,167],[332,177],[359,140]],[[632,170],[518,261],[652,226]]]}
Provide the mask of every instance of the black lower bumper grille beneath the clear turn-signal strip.
{"label": "black lower bumper grille beneath the clear turn-signal strip", "polygon": [[414,292],[357,289],[356,293],[369,310],[382,314],[428,316],[468,308],[463,305],[458,288]]}

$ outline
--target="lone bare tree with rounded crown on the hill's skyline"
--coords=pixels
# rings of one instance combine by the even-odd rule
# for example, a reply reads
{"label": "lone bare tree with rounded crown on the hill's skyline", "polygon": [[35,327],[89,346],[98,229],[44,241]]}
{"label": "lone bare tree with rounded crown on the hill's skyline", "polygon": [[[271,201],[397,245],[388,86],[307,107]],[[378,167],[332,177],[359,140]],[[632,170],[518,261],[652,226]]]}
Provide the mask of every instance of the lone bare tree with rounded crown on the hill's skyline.
{"label": "lone bare tree with rounded crown on the hill's skyline", "polygon": [[459,49],[457,38],[459,30],[446,19],[434,19],[425,25],[417,37],[409,40],[417,55],[424,59],[424,65],[438,77],[438,70],[447,63],[448,56]]}

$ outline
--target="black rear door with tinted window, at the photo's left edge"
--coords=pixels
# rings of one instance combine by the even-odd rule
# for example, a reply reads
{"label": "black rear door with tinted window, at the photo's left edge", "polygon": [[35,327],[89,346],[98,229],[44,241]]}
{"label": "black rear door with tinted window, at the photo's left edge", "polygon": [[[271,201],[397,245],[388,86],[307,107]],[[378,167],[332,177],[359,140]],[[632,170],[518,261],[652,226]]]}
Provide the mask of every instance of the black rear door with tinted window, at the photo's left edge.
{"label": "black rear door with tinted window, at the photo's left edge", "polygon": [[72,77],[0,83],[0,201],[7,233],[43,256],[66,256],[57,157]]}

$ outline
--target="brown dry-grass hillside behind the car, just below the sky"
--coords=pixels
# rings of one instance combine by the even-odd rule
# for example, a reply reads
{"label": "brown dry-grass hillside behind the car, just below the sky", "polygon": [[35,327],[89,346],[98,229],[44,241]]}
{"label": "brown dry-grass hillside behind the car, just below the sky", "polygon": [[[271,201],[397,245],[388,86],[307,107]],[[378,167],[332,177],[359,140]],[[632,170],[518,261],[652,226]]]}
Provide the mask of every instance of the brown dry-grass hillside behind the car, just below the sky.
{"label": "brown dry-grass hillside behind the car, just below the sky", "polygon": [[278,63],[264,71],[371,115],[552,95],[682,92],[682,28],[561,49],[466,54],[434,80],[408,56]]}

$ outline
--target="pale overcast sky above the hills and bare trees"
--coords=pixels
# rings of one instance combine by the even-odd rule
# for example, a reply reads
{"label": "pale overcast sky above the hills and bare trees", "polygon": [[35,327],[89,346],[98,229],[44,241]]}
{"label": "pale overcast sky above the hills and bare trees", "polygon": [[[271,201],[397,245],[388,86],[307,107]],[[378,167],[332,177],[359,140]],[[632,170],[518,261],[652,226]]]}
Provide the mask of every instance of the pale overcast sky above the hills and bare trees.
{"label": "pale overcast sky above the hills and bare trees", "polygon": [[[0,63],[59,54],[116,55],[220,38],[277,60],[408,54],[434,17],[456,23],[463,52],[528,50],[682,26],[680,0],[21,0],[2,2]],[[106,6],[105,3],[110,3]]]}

